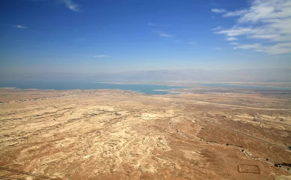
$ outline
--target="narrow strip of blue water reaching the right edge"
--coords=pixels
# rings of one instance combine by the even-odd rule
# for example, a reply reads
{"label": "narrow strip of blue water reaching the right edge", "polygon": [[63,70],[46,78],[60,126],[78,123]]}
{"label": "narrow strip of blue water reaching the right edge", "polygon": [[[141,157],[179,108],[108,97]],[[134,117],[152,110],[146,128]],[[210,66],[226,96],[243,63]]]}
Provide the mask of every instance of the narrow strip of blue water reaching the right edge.
{"label": "narrow strip of blue water reaching the right edge", "polygon": [[199,83],[197,85],[201,86],[211,86],[211,87],[234,87],[234,88],[243,88],[243,89],[257,89],[257,90],[290,90],[291,87],[282,87],[282,86],[254,86],[254,85],[238,85],[238,84],[215,84],[215,83]]}

